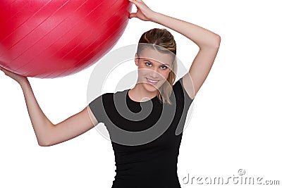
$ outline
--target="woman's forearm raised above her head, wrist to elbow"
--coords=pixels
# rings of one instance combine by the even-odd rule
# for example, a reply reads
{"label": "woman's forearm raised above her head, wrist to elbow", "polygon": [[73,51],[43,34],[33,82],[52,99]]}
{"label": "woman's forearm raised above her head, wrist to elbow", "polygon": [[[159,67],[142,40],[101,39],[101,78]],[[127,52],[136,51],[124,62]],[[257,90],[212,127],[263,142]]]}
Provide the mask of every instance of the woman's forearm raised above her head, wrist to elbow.
{"label": "woman's forearm raised above her head, wrist to elbow", "polygon": [[177,18],[172,18],[168,15],[157,12],[152,15],[152,18],[150,18],[150,20],[152,20],[152,22],[154,23],[164,25],[171,30],[175,30],[185,37],[188,37],[188,39],[192,40],[192,42],[195,42],[195,44],[197,44],[200,49],[214,46],[219,47],[219,35],[216,35],[214,32],[204,29],[203,27],[200,27],[198,25],[194,25],[192,23],[188,23]]}

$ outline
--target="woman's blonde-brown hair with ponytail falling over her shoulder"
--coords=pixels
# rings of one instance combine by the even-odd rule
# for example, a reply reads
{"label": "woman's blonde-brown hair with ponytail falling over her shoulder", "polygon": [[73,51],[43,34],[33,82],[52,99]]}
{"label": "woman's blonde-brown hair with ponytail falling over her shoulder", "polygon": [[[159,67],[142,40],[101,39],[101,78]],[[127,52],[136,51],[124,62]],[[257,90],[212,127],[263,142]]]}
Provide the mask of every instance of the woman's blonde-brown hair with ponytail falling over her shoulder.
{"label": "woman's blonde-brown hair with ponytail falling over her shoulder", "polygon": [[[171,72],[168,74],[167,82],[161,85],[158,90],[157,97],[159,101],[171,104],[169,97],[171,96],[173,82],[176,80],[176,70],[177,70],[177,61],[176,61],[176,41],[174,40],[171,32],[168,32],[166,29],[154,28],[142,34],[137,46],[137,54],[140,54],[142,51],[142,44],[153,44],[154,49],[161,53],[172,53],[174,56],[173,63],[171,65]],[[164,50],[165,49],[165,50]]]}

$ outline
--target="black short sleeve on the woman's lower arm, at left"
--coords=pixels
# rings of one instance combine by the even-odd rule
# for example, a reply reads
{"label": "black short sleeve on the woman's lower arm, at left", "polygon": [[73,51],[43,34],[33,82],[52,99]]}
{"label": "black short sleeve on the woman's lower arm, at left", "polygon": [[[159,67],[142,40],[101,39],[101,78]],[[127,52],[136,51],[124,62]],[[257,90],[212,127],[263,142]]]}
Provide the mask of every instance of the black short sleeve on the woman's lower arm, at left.
{"label": "black short sleeve on the woman's lower arm, at left", "polygon": [[89,107],[93,115],[99,123],[104,123],[103,113],[103,95],[98,96],[96,99],[90,102]]}

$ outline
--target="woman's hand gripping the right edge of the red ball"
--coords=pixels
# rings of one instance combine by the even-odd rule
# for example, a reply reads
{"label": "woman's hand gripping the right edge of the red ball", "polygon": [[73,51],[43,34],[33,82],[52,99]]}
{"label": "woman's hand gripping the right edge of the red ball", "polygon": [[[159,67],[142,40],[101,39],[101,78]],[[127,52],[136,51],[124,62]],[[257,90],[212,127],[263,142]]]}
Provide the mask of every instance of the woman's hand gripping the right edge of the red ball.
{"label": "woman's hand gripping the right edge of the red ball", "polygon": [[130,13],[129,18],[139,18],[144,21],[151,21],[154,15],[154,11],[152,11],[142,0],[128,0],[131,3],[135,4],[137,8],[136,13]]}

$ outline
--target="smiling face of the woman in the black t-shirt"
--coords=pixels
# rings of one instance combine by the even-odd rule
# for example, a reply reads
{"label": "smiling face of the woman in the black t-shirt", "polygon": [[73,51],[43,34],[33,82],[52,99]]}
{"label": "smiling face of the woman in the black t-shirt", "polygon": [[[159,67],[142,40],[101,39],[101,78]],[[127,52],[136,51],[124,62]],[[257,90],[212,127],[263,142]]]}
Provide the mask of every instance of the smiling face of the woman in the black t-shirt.
{"label": "smiling face of the woman in the black t-shirt", "polygon": [[142,49],[138,56],[135,54],[135,64],[138,66],[137,83],[142,84],[149,92],[157,91],[171,72],[173,57],[150,48]]}

